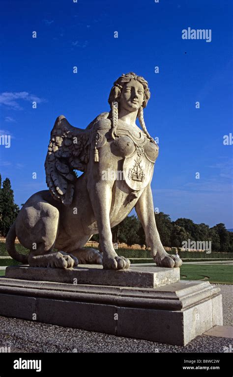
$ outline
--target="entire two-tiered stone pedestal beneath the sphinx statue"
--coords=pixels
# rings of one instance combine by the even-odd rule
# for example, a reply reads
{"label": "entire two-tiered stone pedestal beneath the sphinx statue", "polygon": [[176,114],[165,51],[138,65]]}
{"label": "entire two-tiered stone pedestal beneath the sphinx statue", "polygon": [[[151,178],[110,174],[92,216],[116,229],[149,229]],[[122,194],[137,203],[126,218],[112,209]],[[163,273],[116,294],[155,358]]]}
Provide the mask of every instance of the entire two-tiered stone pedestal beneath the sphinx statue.
{"label": "entire two-tiered stone pedestal beneath the sphinx statue", "polygon": [[[85,266],[68,272],[8,267],[6,277],[0,278],[0,315],[32,321],[36,314],[38,322],[173,345],[186,345],[214,325],[222,324],[219,288],[207,281],[177,281],[179,269],[159,268],[164,270],[166,278],[162,271],[156,275],[155,269],[104,271],[95,267],[90,271]],[[86,277],[82,272],[85,270]],[[67,272],[68,283],[64,282]],[[57,282],[51,282],[50,273]],[[141,274],[139,280],[135,277],[137,273]],[[78,274],[81,280],[71,284]],[[96,284],[98,274],[101,279],[105,276],[105,285]],[[126,280],[121,280],[124,276],[135,286],[127,287]],[[168,276],[175,281],[163,285]],[[81,284],[87,277],[85,285]]]}

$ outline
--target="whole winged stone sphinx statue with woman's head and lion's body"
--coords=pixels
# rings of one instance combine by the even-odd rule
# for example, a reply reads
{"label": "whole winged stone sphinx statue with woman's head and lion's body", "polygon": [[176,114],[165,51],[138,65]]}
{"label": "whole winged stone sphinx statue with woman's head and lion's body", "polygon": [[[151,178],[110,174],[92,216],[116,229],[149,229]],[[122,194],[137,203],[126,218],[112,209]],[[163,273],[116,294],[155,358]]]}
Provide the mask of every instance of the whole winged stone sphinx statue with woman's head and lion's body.
{"label": "whole winged stone sphinx statue with woman's head and lion's body", "polygon": [[[130,261],[113,247],[111,228],[135,207],[156,265],[182,264],[165,251],[155,223],[150,182],[158,145],[144,121],[149,98],[147,81],[131,72],[114,82],[110,112],[98,115],[86,129],[71,126],[63,115],[57,118],[45,160],[49,189],[33,194],[10,228],[6,248],[12,258],[32,267],[93,263],[128,269]],[[76,170],[83,174],[78,177]],[[99,250],[84,247],[97,233]],[[16,251],[16,237],[29,256]]]}

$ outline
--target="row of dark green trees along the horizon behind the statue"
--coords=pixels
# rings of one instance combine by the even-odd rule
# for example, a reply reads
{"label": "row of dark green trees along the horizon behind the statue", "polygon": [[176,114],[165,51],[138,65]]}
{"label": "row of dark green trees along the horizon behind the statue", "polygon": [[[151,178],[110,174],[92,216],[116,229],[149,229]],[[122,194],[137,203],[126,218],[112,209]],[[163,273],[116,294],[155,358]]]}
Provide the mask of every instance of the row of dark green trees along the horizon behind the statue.
{"label": "row of dark green trees along the horizon behind the statue", "polygon": [[[19,212],[19,206],[14,202],[14,193],[9,178],[1,185],[0,176],[0,234],[5,237]],[[233,232],[229,232],[223,223],[212,228],[201,223],[195,224],[189,218],[177,218],[172,221],[169,215],[155,213],[155,220],[164,246],[182,247],[182,242],[211,241],[212,251],[233,252]],[[113,242],[125,242],[131,246],[134,243],[146,245],[143,227],[136,216],[127,216],[112,229]],[[99,241],[94,235],[93,241]]]}

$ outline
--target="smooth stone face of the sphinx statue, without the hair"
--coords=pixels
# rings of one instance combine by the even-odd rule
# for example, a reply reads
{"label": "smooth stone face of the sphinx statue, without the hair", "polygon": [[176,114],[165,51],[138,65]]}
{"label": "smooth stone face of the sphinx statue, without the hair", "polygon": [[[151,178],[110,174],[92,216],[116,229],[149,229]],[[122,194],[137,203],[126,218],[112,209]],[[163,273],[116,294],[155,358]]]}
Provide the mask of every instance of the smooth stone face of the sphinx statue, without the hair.
{"label": "smooth stone face of the sphinx statue, without the hair", "polygon": [[144,100],[144,87],[137,80],[131,80],[124,84],[119,100],[121,108],[128,111],[138,110]]}

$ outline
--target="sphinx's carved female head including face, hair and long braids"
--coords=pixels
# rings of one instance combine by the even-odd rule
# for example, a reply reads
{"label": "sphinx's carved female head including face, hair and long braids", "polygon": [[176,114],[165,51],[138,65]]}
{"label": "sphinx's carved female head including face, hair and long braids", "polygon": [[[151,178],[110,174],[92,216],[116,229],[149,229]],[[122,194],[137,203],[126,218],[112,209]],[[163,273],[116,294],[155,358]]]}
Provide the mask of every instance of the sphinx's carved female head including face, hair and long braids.
{"label": "sphinx's carved female head including face, hair and long braids", "polygon": [[118,109],[121,107],[128,111],[137,111],[138,118],[144,133],[150,137],[146,130],[143,116],[143,108],[146,108],[150,98],[148,82],[135,73],[130,72],[122,74],[115,82],[109,95],[109,104],[111,107],[110,117],[112,118],[112,135],[117,136]]}

